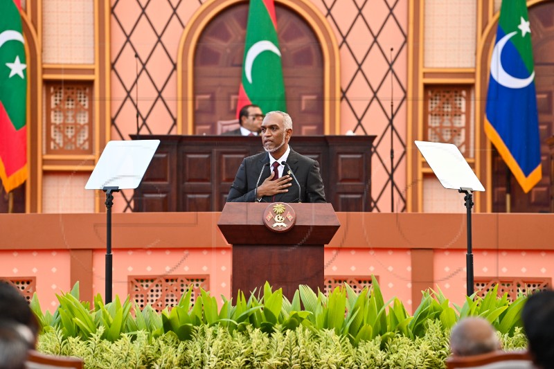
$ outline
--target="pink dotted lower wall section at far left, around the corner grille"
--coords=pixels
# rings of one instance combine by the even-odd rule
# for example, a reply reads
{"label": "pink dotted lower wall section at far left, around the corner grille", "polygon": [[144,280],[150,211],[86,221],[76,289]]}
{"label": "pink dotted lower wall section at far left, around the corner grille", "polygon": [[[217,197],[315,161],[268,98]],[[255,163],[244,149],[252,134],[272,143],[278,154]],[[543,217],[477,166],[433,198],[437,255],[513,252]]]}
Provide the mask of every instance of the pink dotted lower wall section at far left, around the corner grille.
{"label": "pink dotted lower wall section at far left, around the corner grille", "polygon": [[[6,235],[5,232],[1,233]],[[35,277],[42,310],[55,311],[55,294],[70,291],[70,256],[67,250],[0,250],[0,277]]]}

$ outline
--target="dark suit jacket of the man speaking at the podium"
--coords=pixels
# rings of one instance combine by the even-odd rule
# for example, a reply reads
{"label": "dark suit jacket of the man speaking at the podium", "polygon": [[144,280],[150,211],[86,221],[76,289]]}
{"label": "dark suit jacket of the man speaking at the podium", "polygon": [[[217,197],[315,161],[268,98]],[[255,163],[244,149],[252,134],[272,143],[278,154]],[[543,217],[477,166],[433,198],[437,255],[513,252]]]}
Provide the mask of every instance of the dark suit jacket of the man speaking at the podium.
{"label": "dark suit jacket of the man speaking at the podium", "polygon": [[[292,170],[294,176],[298,179],[301,191],[298,191],[298,185],[293,178],[291,181],[292,186],[288,188],[289,192],[275,195],[274,201],[298,202],[298,199],[301,198],[302,202],[326,202],[323,180],[321,179],[321,174],[319,174],[319,164],[317,161],[298,154],[298,152],[291,149],[287,164],[290,165],[290,170]],[[288,165],[285,165],[283,175],[289,171]],[[260,172],[262,177],[260,177]],[[258,178],[260,179],[258,186],[260,186],[269,177],[269,174],[271,174],[271,168],[269,167],[269,154],[267,152],[245,158],[240,164],[240,168],[238,168],[235,181],[231,185],[227,202],[256,201],[255,190]],[[260,202],[274,201],[271,196],[265,196],[262,197]]]}

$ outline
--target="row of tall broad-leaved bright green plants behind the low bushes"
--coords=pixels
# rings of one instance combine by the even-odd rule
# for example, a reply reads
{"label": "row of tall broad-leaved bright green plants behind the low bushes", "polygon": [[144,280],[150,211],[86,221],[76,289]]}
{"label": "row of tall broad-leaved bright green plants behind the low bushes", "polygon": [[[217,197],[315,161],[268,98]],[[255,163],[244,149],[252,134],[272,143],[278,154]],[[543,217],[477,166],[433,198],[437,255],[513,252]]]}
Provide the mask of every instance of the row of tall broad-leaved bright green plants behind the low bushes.
{"label": "row of tall broad-leaved bright green plants behind the low bushes", "polygon": [[345,284],[326,296],[301,285],[289,301],[282,289],[274,291],[267,282],[260,293],[261,296],[252,293],[247,300],[239,291],[235,305],[233,300],[222,297],[220,308],[215,297],[203,289],[193,302],[193,287],[189,286],[175,307],[163,309],[159,314],[150,305],[139,309],[129,298],[121,303],[116,296],[113,302],[104,304],[100,294],[90,309],[89,303],[79,301],[77,284],[69,293],[57,296],[60,305],[54,314],[42,313],[36,295],[30,307],[45,332],[60,332],[64,341],[71,337],[91,339],[100,331],[99,339],[109,342],[125,335],[138,339],[141,332],[146,332],[150,340],[169,335],[179,341],[190,341],[202,327],[222,327],[230,334],[244,334],[252,329],[265,334],[286,334],[304,327],[314,334],[332,331],[354,347],[379,338],[383,349],[397,335],[417,341],[429,334],[434,322],[448,331],[465,316],[483,316],[500,334],[513,336],[521,327],[521,308],[526,300],[525,296],[518,296],[510,303],[506,294],[498,298],[494,287],[483,298],[474,294],[458,306],[450,304],[437,288],[422,291],[421,303],[411,315],[397,298],[384,301],[375,277],[373,285],[359,293]]}

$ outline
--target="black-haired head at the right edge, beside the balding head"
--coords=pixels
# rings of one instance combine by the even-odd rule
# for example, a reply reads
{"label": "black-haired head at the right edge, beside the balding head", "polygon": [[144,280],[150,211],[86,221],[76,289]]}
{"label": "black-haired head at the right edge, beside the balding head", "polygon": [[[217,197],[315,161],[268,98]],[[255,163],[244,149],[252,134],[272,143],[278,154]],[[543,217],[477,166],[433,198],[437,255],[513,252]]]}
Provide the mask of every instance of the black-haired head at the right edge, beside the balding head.
{"label": "black-haired head at the right edge, beside the balding head", "polygon": [[537,368],[554,368],[554,291],[531,295],[521,312],[528,348]]}

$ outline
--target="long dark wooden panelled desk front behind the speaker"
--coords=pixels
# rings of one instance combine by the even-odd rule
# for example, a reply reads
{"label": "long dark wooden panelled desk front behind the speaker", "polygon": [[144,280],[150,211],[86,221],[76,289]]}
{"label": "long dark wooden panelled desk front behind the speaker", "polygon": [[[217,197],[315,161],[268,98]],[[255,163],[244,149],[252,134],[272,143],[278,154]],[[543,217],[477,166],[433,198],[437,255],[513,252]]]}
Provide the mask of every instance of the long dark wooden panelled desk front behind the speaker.
{"label": "long dark wooden panelled desk front behind the speaker", "polygon": [[[221,211],[242,159],[262,151],[260,138],[255,137],[148,138],[159,139],[161,144],[134,192],[135,211]],[[370,211],[374,138],[294,136],[291,146],[319,162],[325,197],[334,210]],[[160,165],[164,169],[157,168]]]}

